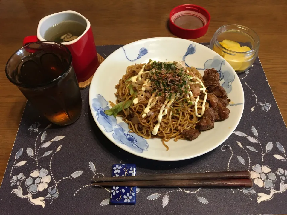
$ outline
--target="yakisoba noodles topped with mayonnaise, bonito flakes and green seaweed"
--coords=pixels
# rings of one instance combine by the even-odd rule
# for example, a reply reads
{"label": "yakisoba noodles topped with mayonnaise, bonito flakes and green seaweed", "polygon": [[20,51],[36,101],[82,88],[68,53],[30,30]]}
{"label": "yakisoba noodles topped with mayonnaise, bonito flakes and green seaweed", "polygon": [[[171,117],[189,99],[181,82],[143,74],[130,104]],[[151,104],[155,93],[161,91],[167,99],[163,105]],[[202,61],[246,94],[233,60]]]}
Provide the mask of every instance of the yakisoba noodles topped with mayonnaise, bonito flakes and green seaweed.
{"label": "yakisoba noodles topped with mayonnaise, bonito flakes and green seaweed", "polygon": [[196,125],[210,109],[202,80],[201,73],[184,62],[150,60],[128,66],[115,86],[117,105],[110,101],[113,108],[105,113],[121,116],[139,136],[161,138],[166,147],[171,138],[195,139],[200,134]]}

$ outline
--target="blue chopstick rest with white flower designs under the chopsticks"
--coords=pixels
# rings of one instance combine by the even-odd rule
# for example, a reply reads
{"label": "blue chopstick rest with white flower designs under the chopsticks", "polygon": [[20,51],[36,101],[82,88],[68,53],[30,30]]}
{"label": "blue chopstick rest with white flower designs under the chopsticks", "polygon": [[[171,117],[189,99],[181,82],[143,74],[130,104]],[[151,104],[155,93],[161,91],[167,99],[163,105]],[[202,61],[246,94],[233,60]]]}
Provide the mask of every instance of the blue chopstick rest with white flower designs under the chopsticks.
{"label": "blue chopstick rest with white flower designs under the chopsticks", "polygon": [[[112,177],[135,176],[135,164],[114,164],[112,167]],[[137,187],[112,187],[111,204],[115,205],[134,205],[136,202]]]}

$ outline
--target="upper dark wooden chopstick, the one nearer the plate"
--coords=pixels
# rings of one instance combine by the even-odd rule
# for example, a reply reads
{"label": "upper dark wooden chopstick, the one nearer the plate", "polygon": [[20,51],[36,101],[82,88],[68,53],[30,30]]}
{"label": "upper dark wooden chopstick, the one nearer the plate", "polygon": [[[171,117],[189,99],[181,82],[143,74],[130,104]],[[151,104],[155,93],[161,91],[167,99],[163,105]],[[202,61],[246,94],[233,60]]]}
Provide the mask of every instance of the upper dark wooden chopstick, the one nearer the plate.
{"label": "upper dark wooden chopstick, the one nearer the plate", "polygon": [[157,180],[193,180],[193,179],[244,179],[250,178],[249,171],[206,172],[188,174],[162,174],[146,176],[123,176],[94,178],[92,182],[120,182],[120,181],[157,181]]}

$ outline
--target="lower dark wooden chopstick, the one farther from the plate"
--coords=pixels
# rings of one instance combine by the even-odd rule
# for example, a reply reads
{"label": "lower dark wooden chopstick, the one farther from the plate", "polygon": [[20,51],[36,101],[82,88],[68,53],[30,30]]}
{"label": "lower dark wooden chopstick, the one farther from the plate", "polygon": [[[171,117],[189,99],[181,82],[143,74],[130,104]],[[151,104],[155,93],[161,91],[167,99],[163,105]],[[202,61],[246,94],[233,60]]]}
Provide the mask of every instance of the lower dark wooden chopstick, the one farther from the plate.
{"label": "lower dark wooden chopstick, the one farther from the plate", "polygon": [[[132,177],[131,177],[132,178]],[[131,186],[131,187],[204,187],[204,188],[250,188],[249,179],[193,179],[193,180],[153,180],[153,181],[117,181],[96,182],[94,186]]]}

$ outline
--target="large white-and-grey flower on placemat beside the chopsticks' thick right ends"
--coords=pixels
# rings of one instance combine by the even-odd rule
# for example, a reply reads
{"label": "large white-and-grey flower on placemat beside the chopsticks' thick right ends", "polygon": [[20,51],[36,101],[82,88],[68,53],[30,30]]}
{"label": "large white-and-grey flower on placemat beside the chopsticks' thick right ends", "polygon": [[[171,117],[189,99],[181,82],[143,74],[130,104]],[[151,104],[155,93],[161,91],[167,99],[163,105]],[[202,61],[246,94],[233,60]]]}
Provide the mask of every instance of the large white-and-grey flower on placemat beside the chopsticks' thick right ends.
{"label": "large white-and-grey flower on placemat beside the chopsticks' thick right ends", "polygon": [[271,172],[268,166],[256,164],[252,167],[254,171],[251,171],[251,178],[254,179],[254,184],[259,187],[265,187],[266,189],[274,188],[276,176]]}

